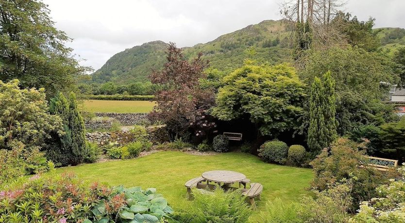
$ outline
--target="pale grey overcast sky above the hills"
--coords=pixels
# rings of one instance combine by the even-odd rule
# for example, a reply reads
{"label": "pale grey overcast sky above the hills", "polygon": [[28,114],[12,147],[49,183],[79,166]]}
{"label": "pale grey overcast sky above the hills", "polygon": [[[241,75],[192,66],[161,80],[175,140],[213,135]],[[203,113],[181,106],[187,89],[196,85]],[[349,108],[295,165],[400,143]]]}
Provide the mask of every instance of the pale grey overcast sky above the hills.
{"label": "pale grey overcast sky above the hills", "polygon": [[[44,0],[67,46],[99,69],[111,56],[162,40],[179,47],[206,43],[266,19],[281,18],[280,0]],[[405,28],[405,0],[348,0],[346,10],[376,27]]]}

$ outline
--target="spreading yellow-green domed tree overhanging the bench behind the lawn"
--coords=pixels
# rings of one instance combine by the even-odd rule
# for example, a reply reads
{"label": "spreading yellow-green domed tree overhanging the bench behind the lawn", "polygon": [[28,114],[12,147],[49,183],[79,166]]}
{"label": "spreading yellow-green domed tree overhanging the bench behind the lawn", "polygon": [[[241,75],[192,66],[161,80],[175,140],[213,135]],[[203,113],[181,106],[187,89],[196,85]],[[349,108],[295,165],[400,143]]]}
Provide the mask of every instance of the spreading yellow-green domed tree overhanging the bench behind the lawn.
{"label": "spreading yellow-green domed tree overhanging the bench behind the lawn", "polygon": [[305,85],[287,64],[247,63],[223,78],[212,114],[220,120],[247,115],[262,135],[294,129],[302,115]]}

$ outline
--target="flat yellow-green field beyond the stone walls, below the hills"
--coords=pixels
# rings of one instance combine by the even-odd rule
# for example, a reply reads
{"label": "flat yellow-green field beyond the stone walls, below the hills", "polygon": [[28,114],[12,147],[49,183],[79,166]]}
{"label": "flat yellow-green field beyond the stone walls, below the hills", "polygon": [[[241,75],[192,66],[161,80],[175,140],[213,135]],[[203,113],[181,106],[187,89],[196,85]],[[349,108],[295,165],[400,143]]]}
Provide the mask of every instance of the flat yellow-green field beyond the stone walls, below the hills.
{"label": "flat yellow-green field beyond the stone walls, below the hills", "polygon": [[110,100],[84,100],[86,112],[151,112],[154,102],[150,101],[110,101]]}

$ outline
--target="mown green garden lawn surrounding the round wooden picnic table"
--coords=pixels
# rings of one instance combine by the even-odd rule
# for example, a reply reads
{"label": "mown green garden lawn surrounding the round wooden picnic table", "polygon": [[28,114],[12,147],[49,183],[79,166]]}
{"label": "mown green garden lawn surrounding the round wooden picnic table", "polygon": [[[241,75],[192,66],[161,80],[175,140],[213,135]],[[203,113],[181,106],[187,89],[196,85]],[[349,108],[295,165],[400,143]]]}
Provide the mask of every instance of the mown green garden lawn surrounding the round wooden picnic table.
{"label": "mown green garden lawn surrounding the round wooden picnic table", "polygon": [[269,164],[257,157],[237,152],[211,156],[195,156],[183,152],[159,152],[146,157],[84,164],[58,169],[59,172],[75,172],[90,181],[106,182],[126,187],[154,187],[162,193],[172,207],[187,204],[184,183],[209,170],[232,170],[245,174],[251,182],[263,184],[258,211],[251,222],[260,222],[259,215],[266,202],[280,197],[283,201],[295,201],[306,193],[313,174],[312,170]]}

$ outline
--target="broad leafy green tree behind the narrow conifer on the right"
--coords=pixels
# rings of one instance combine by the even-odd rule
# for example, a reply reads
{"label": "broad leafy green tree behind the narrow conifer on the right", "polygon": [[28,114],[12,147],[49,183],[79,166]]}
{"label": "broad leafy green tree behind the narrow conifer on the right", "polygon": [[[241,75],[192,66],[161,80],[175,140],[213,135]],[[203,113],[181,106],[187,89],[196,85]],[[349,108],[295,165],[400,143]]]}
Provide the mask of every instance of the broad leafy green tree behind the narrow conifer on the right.
{"label": "broad leafy green tree behind the narrow conifer on the right", "polygon": [[397,80],[387,55],[362,48],[309,50],[301,77],[312,83],[315,77],[331,71],[336,81],[336,119],[339,135],[350,134],[365,124],[381,124],[392,118],[392,107],[382,103],[388,87],[381,81]]}

